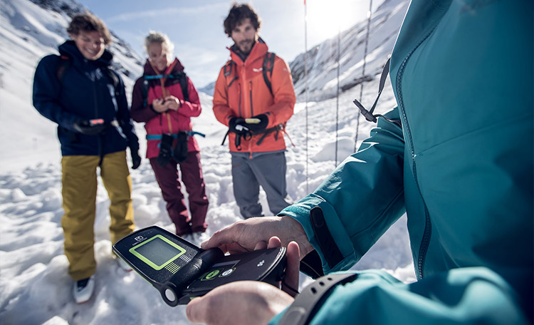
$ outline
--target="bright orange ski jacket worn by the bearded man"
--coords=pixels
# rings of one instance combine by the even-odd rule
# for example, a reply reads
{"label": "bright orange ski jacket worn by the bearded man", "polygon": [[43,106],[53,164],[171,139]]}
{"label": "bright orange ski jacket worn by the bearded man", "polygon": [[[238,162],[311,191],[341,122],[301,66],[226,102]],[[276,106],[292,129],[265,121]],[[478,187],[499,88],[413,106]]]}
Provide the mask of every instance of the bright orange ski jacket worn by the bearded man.
{"label": "bright orange ski jacket worn by the bearded man", "polygon": [[[256,41],[245,60],[234,47],[229,50],[231,59],[221,68],[215,83],[213,110],[216,119],[228,126],[233,117],[251,118],[266,114],[269,120],[267,129],[281,125],[281,130],[242,139],[241,148],[236,148],[235,133],[229,133],[230,151],[252,154],[286,149],[283,132],[286,122],[293,115],[296,100],[289,66],[282,58],[274,58],[272,74],[268,74],[271,95],[262,72],[263,58],[268,51],[266,43],[261,39]],[[263,140],[259,141],[261,138]]]}

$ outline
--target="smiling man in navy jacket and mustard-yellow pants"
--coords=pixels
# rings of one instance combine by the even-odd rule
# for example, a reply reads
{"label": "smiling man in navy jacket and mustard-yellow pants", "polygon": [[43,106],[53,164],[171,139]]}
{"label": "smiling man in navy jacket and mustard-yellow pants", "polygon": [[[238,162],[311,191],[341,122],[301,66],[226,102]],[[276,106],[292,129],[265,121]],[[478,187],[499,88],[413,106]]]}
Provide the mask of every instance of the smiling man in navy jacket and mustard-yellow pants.
{"label": "smiling man in navy jacket and mustard-yellow pants", "polygon": [[59,46],[61,56],[46,56],[36,68],[33,105],[58,124],[65,210],[61,225],[68,272],[75,281],[73,296],[82,303],[94,290],[97,167],[110,197],[114,243],[135,228],[126,147],[132,168],[139,167],[141,158],[124,84],[110,70],[107,27],[91,14],[80,14],[67,32],[72,40]]}

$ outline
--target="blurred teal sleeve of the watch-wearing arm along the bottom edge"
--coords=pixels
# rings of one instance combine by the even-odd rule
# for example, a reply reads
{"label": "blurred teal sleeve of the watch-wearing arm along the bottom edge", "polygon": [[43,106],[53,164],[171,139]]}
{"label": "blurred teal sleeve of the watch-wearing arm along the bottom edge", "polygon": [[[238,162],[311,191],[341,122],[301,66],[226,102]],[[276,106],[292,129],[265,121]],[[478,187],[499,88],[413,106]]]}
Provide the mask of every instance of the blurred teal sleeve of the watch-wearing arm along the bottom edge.
{"label": "blurred teal sleeve of the watch-wearing arm along the bottom edge", "polygon": [[370,270],[337,285],[309,324],[529,324],[518,301],[504,279],[483,267],[451,269],[412,284]]}

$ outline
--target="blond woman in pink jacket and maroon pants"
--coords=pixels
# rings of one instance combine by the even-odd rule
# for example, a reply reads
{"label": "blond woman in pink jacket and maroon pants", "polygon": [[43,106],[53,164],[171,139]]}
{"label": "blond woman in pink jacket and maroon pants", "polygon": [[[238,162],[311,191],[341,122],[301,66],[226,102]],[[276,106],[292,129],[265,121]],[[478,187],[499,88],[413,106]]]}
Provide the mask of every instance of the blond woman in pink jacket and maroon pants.
{"label": "blond woman in pink jacket and maroon pants", "polygon": [[[133,88],[130,114],[136,122],[145,123],[147,158],[176,233],[198,235],[206,231],[208,199],[191,118],[200,115],[201,107],[197,89],[185,75],[184,66],[178,58],[172,60],[173,48],[162,33],[150,32],[145,38],[148,59],[143,76]],[[177,166],[189,193],[190,218]]]}

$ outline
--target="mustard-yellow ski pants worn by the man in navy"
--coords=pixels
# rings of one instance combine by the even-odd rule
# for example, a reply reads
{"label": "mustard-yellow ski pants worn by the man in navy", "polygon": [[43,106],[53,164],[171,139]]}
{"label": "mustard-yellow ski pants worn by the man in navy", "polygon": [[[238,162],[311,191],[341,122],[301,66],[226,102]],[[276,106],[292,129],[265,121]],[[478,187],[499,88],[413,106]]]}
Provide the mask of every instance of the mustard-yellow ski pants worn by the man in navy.
{"label": "mustard-yellow ski pants worn by the man in navy", "polygon": [[[61,159],[63,210],[61,220],[65,237],[68,273],[75,281],[95,273],[95,212],[98,155],[72,155]],[[135,228],[132,205],[132,179],[126,152],[103,157],[100,177],[110,197],[110,235],[115,243]]]}

